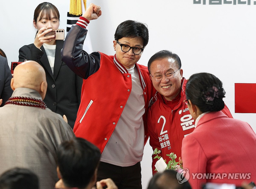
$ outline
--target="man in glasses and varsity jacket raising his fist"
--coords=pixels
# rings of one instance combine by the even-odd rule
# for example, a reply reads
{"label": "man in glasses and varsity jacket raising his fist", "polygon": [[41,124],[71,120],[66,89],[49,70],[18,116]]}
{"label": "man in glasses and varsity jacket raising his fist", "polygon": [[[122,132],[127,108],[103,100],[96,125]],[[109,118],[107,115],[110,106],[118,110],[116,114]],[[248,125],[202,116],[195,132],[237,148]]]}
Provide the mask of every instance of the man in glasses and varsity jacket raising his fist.
{"label": "man in glasses and varsity jacket raising his fist", "polygon": [[100,149],[98,180],[111,178],[119,189],[141,189],[140,162],[148,138],[144,127],[155,93],[147,67],[137,64],[148,43],[148,29],[140,22],[122,22],[114,34],[114,56],[87,54],[82,50],[86,27],[100,15],[100,7],[91,4],[71,27],[61,53],[83,78],[74,132]]}

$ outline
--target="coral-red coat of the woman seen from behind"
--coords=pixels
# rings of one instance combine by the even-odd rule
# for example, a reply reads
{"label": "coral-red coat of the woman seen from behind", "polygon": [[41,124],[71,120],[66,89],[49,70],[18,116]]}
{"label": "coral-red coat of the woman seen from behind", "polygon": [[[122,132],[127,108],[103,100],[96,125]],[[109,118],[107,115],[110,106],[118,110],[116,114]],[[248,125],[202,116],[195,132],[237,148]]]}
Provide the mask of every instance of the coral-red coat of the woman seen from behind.
{"label": "coral-red coat of the woman seen from behind", "polygon": [[183,139],[182,159],[192,189],[200,189],[206,182],[250,183],[256,181],[256,135],[249,124],[230,119],[221,111],[210,112]]}

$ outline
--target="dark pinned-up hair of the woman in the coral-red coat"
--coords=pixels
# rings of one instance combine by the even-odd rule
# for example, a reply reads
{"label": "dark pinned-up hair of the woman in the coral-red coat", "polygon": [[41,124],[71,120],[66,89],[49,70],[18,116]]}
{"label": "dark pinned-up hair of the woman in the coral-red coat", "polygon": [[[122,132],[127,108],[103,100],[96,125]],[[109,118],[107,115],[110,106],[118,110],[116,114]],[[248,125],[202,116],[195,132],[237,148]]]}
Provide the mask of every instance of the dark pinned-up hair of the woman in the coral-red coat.
{"label": "dark pinned-up hair of the woman in the coral-red coat", "polygon": [[[213,91],[212,88],[218,88],[218,96],[213,97],[215,95],[210,94]],[[212,96],[209,102],[206,94],[208,97]],[[191,100],[202,113],[222,110],[225,106],[223,102],[224,95],[225,91],[222,88],[222,82],[218,77],[209,73],[193,74],[186,84],[186,98]]]}

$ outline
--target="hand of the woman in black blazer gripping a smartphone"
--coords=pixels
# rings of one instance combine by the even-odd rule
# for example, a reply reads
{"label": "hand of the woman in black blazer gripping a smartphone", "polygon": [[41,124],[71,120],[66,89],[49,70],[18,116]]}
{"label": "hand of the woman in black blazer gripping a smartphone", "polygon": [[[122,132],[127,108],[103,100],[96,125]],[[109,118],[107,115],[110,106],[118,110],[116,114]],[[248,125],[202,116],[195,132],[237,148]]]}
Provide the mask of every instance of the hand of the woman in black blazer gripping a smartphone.
{"label": "hand of the woman in black blazer gripping a smartphone", "polygon": [[50,41],[52,41],[52,39],[54,39],[54,37],[55,37],[54,35],[44,37],[44,35],[46,33],[49,33],[51,31],[52,31],[52,28],[47,29],[47,27],[42,27],[38,30],[38,33],[37,33],[35,41],[34,41],[34,45],[38,49],[40,49],[44,43],[50,42]]}

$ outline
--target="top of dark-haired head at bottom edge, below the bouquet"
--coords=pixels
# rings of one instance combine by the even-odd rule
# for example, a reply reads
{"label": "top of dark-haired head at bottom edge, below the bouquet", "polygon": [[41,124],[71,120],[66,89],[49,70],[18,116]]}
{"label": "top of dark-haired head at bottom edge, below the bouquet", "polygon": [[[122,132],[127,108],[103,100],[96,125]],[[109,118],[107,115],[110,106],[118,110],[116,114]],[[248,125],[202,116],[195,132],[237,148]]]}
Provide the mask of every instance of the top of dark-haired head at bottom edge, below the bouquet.
{"label": "top of dark-haired head at bottom edge, below the bouquet", "polygon": [[149,181],[147,189],[191,189],[188,181],[183,183],[178,182],[177,174],[180,173],[174,170],[165,170],[163,173],[156,173]]}

